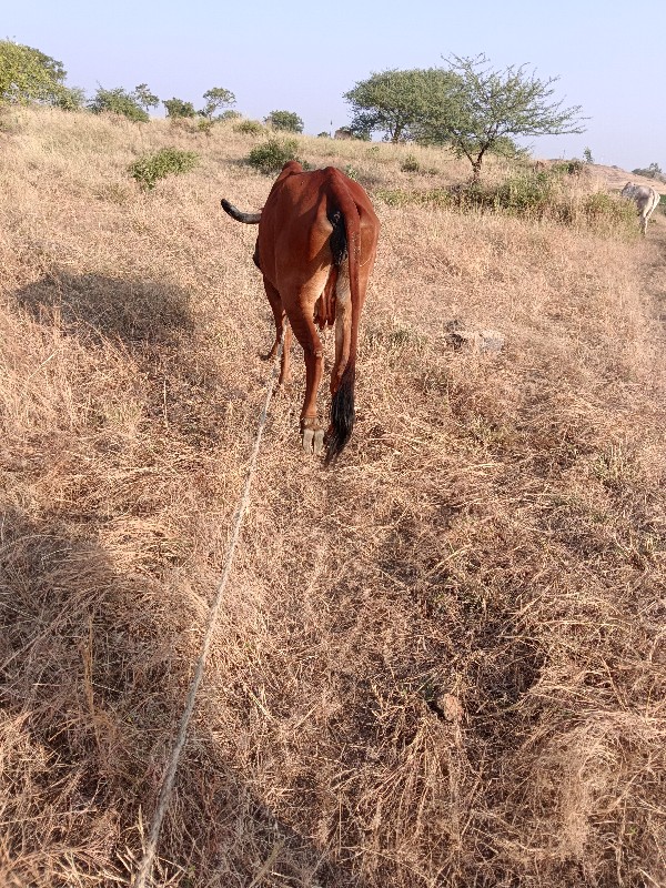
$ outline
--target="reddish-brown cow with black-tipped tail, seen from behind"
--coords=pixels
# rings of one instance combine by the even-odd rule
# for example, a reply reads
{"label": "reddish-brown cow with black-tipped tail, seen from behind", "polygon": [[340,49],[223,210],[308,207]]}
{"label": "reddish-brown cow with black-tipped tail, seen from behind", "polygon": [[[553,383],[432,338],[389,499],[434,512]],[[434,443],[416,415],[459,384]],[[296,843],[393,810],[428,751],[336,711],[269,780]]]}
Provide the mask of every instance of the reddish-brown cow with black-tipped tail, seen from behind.
{"label": "reddish-brown cow with black-tipped tail, seen from behind", "polygon": [[359,319],[374,265],[380,222],[357,182],[334,167],[303,172],[296,161],[284,164],[260,213],[243,213],[225,200],[222,206],[239,222],[259,223],[254,262],[263,274],[275,319],[275,342],[269,359],[276,354],[284,333],[280,383],[291,379],[292,330],[303,346],[306,382],[301,435],[309,453],[319,454],[324,447],[316,411],[323,350],[315,323],[323,330],[335,321],[329,463],[347,443],[354,425]]}

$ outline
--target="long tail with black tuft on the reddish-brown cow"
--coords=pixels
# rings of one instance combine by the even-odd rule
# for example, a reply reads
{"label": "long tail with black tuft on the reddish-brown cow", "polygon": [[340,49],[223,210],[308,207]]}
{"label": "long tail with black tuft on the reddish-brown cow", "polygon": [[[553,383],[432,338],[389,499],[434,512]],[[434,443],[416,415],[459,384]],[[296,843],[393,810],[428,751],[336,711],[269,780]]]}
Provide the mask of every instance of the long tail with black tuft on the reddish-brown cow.
{"label": "long tail with black tuft on the reddish-brown cow", "polygon": [[[342,174],[331,171],[331,196],[334,211],[329,213],[333,223],[331,250],[333,261],[341,265],[349,262],[350,297],[352,302],[351,324],[344,323],[336,305],[335,339],[342,336],[343,363],[339,367],[339,377],[333,380],[331,398],[331,427],[326,448],[326,465],[342,452],[351,437],[354,427],[354,383],[356,377],[356,349],[359,343],[359,320],[361,317],[360,255],[361,255],[361,218]],[[343,224],[342,224],[343,223]],[[340,280],[340,279],[339,279]],[[337,324],[342,331],[337,332]],[[344,359],[346,356],[346,361]]]}

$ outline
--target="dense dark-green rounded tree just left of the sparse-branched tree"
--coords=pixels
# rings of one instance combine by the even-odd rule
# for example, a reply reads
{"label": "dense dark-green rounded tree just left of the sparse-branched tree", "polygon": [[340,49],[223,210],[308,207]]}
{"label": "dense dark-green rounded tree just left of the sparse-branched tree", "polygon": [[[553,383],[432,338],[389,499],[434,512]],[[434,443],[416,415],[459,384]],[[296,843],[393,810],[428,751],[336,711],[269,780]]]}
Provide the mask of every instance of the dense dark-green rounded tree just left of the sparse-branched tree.
{"label": "dense dark-green rounded tree just left of the sparse-branched tree", "polygon": [[352,105],[350,130],[384,132],[394,143],[415,139],[425,121],[444,113],[454,80],[440,68],[373,73],[343,95]]}

